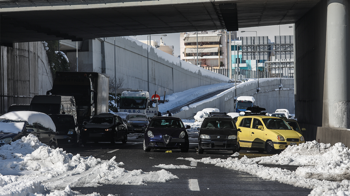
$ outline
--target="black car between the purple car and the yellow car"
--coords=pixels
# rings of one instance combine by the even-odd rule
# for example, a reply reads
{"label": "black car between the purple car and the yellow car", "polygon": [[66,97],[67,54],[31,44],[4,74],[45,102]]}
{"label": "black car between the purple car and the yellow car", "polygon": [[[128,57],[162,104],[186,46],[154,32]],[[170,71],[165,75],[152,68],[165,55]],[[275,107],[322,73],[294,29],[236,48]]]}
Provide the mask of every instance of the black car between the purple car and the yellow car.
{"label": "black car between the purple car and the yellow car", "polygon": [[237,152],[237,127],[227,117],[207,117],[198,128],[198,154],[204,150],[232,150]]}

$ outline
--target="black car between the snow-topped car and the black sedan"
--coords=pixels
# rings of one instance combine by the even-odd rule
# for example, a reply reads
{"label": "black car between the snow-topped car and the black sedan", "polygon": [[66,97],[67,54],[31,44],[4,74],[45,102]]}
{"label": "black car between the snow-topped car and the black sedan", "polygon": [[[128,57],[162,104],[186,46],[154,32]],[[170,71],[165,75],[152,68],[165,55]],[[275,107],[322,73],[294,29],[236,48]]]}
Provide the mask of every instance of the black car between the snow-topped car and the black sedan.
{"label": "black car between the snow-topped car and the black sedan", "polygon": [[56,126],[56,140],[58,145],[71,144],[79,146],[79,128],[77,120],[70,114],[50,114]]}

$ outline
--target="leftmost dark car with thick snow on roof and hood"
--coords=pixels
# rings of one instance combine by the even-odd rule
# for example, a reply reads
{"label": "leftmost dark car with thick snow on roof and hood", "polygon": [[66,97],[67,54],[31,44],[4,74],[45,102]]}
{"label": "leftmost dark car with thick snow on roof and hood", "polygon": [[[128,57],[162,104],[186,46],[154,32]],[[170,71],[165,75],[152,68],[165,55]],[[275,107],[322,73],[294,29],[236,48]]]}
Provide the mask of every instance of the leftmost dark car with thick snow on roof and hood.
{"label": "leftmost dark car with thick snow on roof and hood", "polygon": [[43,144],[57,148],[56,127],[50,116],[41,112],[14,111],[0,116],[0,146],[29,134]]}

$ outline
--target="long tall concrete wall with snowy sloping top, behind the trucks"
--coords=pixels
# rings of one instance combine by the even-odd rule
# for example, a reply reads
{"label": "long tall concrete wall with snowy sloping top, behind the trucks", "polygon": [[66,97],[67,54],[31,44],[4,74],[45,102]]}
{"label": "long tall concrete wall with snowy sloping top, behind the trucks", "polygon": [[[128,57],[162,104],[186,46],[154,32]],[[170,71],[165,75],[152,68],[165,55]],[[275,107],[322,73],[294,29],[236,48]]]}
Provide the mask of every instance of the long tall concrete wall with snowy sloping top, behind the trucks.
{"label": "long tall concrete wall with snowy sloping top, behind the trucks", "polygon": [[[147,52],[147,44],[130,37],[116,37],[115,46],[114,38],[93,39],[88,44],[88,47],[82,46],[89,48],[88,51],[78,52],[78,70],[106,73],[110,75],[110,81],[114,81],[116,68],[117,79],[124,78],[120,92],[125,89],[147,91],[148,81],[149,92],[153,94],[157,91],[160,96],[164,91],[169,95],[203,85],[229,82],[228,77],[182,61],[151,46]],[[70,62],[76,61],[76,52],[68,52],[67,56]]]}

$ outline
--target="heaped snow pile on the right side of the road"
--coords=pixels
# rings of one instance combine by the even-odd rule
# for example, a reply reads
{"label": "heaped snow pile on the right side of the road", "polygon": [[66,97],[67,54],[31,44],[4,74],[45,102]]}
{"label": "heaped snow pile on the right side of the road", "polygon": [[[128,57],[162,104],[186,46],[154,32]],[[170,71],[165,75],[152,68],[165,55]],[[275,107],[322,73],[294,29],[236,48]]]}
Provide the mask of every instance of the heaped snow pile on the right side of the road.
{"label": "heaped snow pile on the right side of the road", "polygon": [[[279,181],[295,187],[313,189],[309,196],[345,196],[350,195],[350,181],[344,180],[350,177],[349,154],[350,150],[344,144],[337,143],[331,146],[330,144],[312,141],[299,146],[288,146],[280,154],[267,157],[251,159],[248,159],[246,156],[241,159],[232,157],[227,159],[211,159],[210,157],[200,160],[185,159],[247,172],[262,179]],[[261,164],[300,165],[300,167],[296,171],[289,171],[278,167],[266,167]],[[334,182],[325,179],[342,181]]]}

